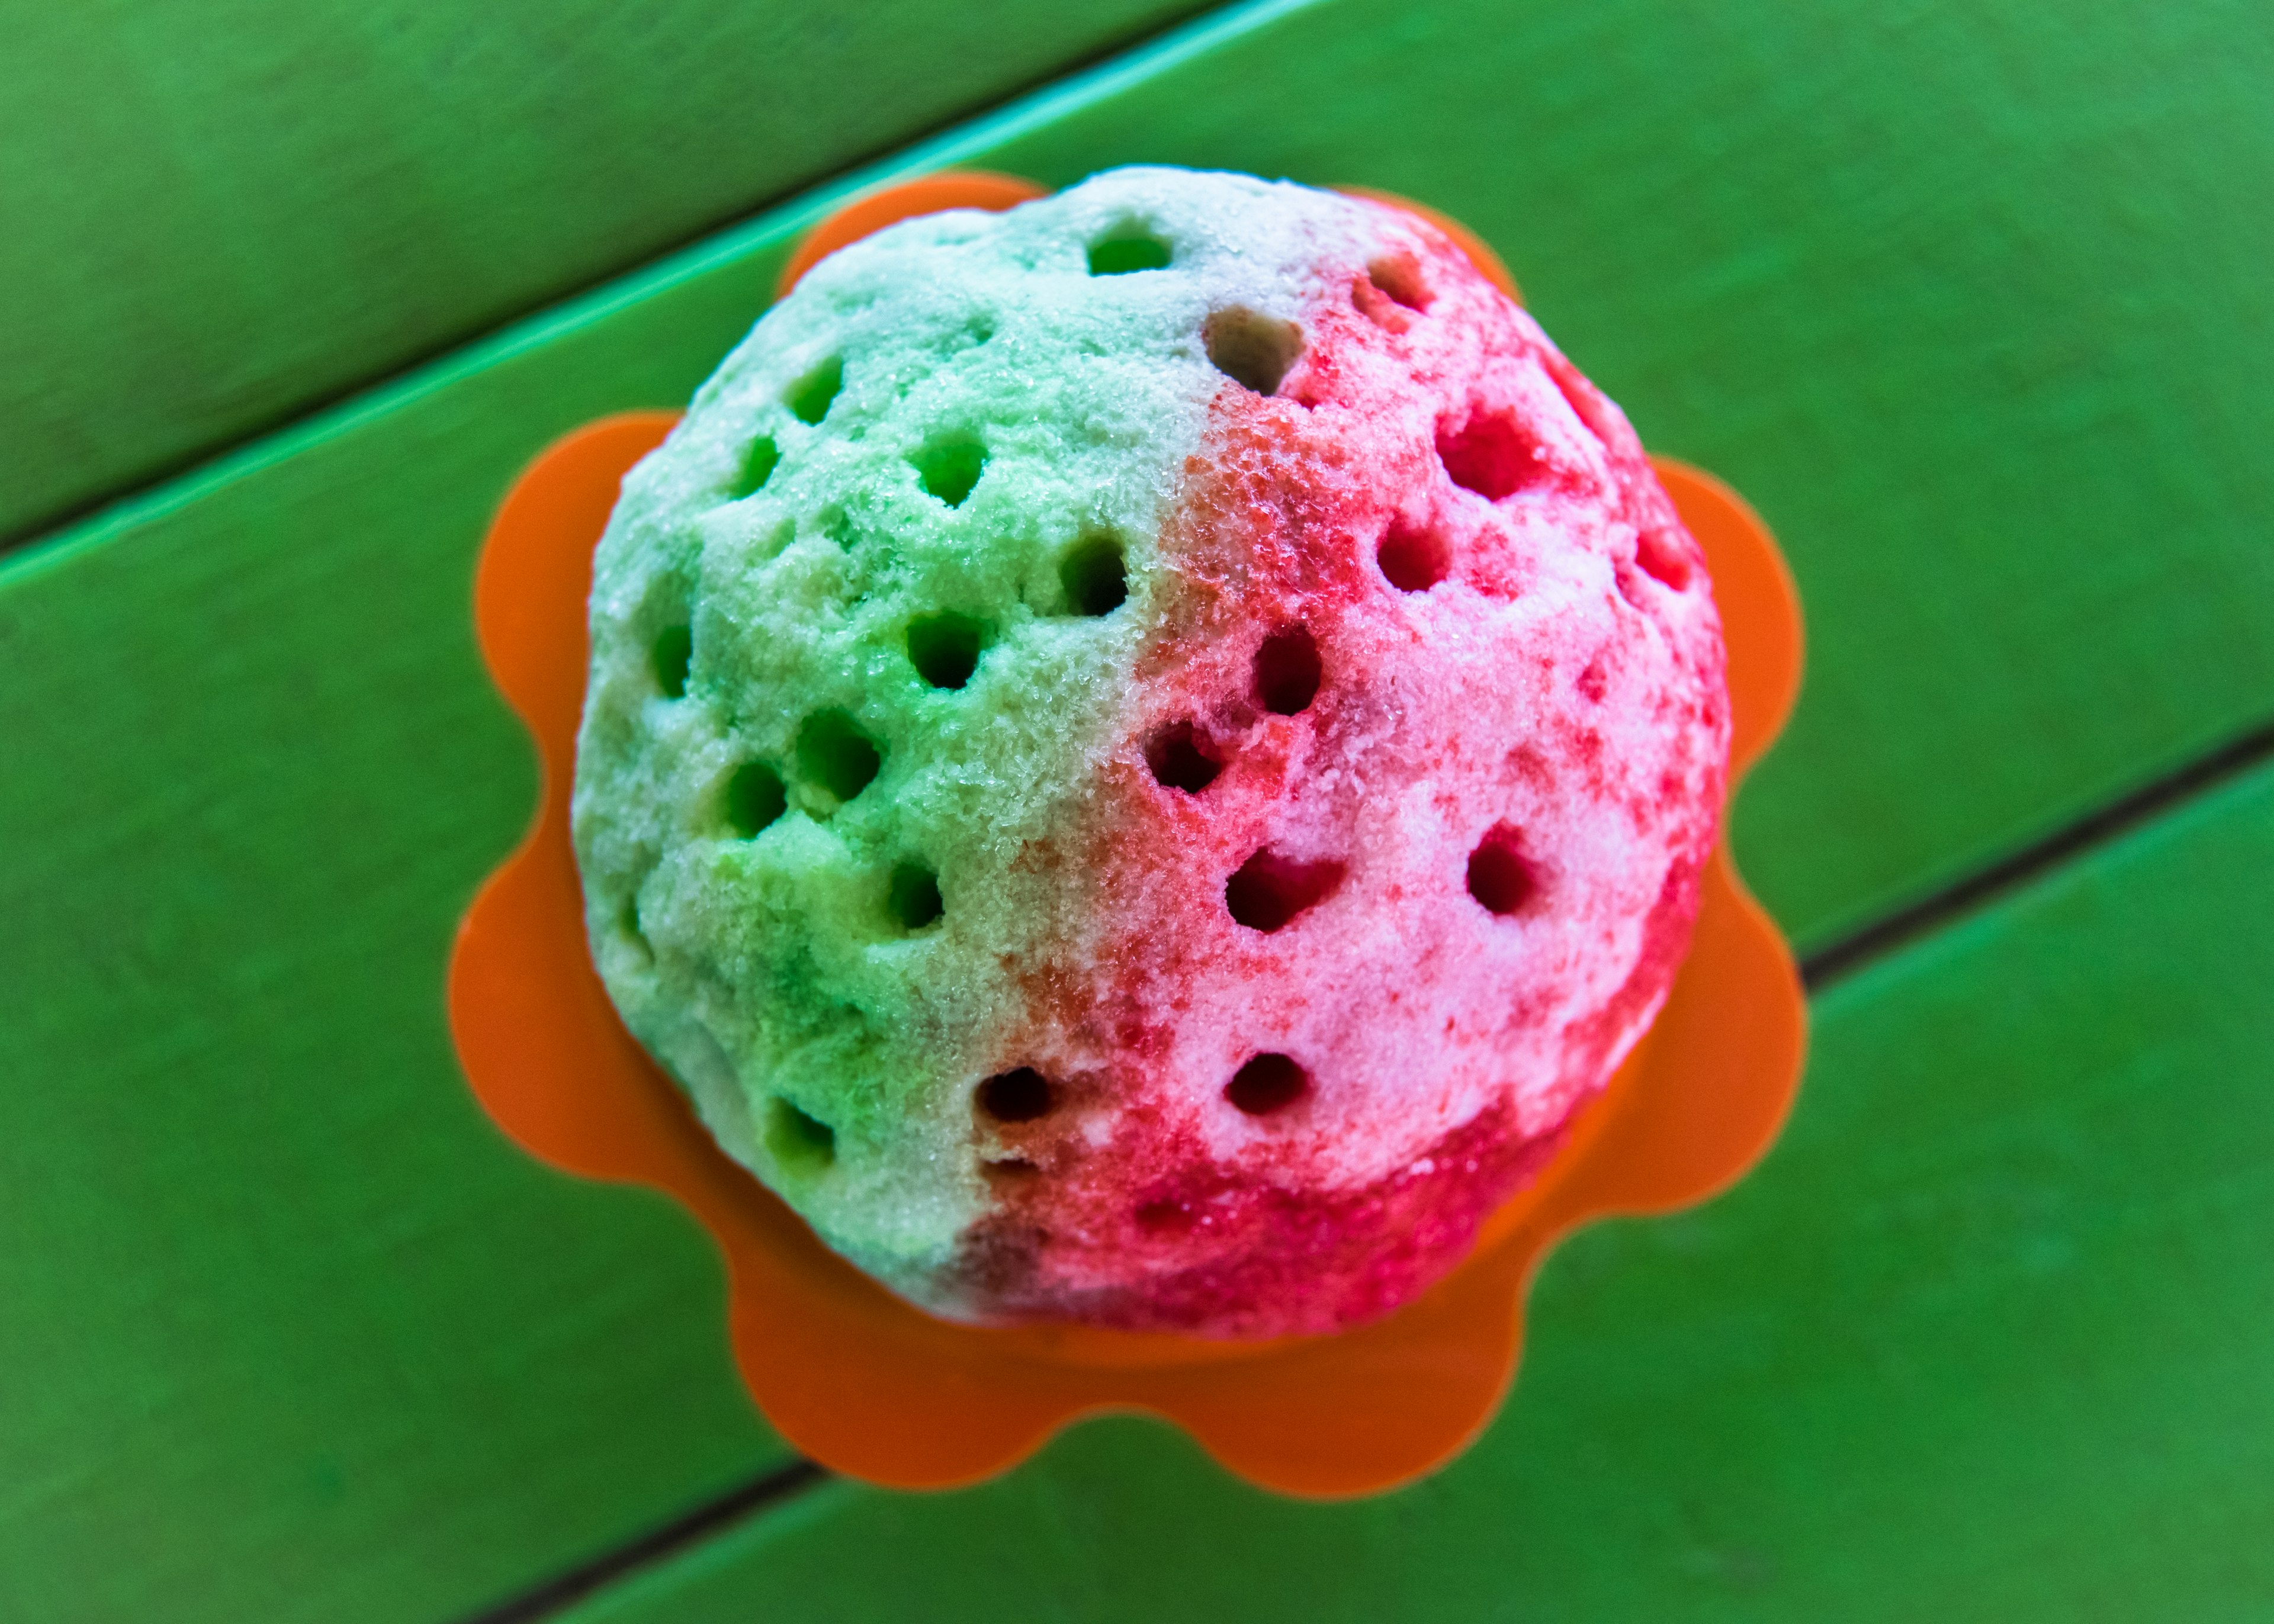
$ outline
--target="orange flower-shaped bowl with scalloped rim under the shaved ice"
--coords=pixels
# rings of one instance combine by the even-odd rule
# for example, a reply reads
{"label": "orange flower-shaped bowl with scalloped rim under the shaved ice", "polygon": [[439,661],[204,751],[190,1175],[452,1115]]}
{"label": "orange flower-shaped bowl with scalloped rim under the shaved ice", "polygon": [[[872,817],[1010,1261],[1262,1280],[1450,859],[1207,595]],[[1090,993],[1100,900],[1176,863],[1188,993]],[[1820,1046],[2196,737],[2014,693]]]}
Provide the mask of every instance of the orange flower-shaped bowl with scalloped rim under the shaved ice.
{"label": "orange flower-shaped bowl with scalloped rim under the shaved ice", "polygon": [[[1003,175],[932,175],[871,193],[814,230],[782,287],[896,218],[1030,196],[1039,189]],[[1455,232],[1514,291],[1474,237],[1414,212]],[[537,735],[543,803],[459,926],[450,1030],[482,1108],[523,1149],[587,1178],[653,1185],[712,1233],[728,1262],[741,1376],[814,1460],[873,1483],[944,1488],[1014,1465],[1078,1415],[1135,1408],[1178,1422],[1226,1467],[1283,1492],[1403,1483],[1492,1417],[1517,1365],[1524,1287],[1560,1235],[1592,1217],[1701,1201],[1776,1137],[1799,1085],[1806,1005],[1792,955],[1724,842],[1651,1033],[1542,1178],[1487,1221],[1469,1260],[1405,1308],[1328,1337],[1214,1342],[973,1328],[891,1296],[719,1151],[616,1019],[584,946],[568,782],[591,550],[623,473],[673,421],[625,414],[557,441],[507,494],[482,548],[482,655]],[[1658,473],[1712,571],[1735,782],[1792,707],[1796,600],[1767,528],[1728,487],[1676,462],[1658,462]]]}

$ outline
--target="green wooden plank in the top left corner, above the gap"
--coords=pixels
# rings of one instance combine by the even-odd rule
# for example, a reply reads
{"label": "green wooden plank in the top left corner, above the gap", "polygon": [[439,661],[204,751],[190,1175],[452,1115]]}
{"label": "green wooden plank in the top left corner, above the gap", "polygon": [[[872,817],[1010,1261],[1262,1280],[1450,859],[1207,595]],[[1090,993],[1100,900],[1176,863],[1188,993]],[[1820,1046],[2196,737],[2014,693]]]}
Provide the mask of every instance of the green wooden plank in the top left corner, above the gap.
{"label": "green wooden plank in the top left corner, above the gap", "polygon": [[0,539],[1180,9],[9,7]]}

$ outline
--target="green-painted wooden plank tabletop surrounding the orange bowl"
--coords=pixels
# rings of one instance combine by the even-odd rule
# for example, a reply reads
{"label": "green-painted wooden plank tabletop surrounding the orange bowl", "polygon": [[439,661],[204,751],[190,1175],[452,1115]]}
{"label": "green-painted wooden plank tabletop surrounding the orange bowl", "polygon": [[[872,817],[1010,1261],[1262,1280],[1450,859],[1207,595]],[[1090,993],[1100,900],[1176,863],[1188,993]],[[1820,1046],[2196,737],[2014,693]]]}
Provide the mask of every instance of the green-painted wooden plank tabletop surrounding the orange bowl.
{"label": "green-painted wooden plank tabletop surrounding the orange bowl", "polygon": [[[0,1617],[2274,1617],[2258,7],[0,11]],[[441,1021],[521,462],[860,187],[1139,159],[1464,218],[1808,603],[1792,1128],[1358,1503],[1139,1419],[805,1467],[705,1237]]]}

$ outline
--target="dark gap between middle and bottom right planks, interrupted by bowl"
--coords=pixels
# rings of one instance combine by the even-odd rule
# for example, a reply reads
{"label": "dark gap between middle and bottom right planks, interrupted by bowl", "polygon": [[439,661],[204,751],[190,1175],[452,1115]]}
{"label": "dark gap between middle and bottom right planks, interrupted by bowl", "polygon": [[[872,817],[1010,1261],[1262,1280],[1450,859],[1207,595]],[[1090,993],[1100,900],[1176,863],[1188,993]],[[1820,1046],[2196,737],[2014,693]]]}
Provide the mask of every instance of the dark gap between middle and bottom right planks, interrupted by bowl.
{"label": "dark gap between middle and bottom right planks, interrupted by bowl", "polygon": [[[2065,862],[2115,844],[2131,830],[2210,794],[2219,785],[2226,785],[2269,760],[2274,760],[2274,719],[2235,739],[2229,739],[2219,748],[2188,762],[2165,778],[2158,778],[2128,796],[2110,801],[2097,812],[2088,812],[2033,846],[2024,846],[2010,857],[1992,862],[1987,869],[1981,869],[1956,885],[1912,903],[1910,908],[1897,910],[1874,926],[1865,926],[1856,935],[1831,944],[1821,953],[1810,953],[1801,960],[1801,985],[1806,985],[1808,992],[1821,992],[1867,964],[1901,951],[1919,937],[1958,921],[1962,914],[1972,914],[1987,903],[2022,889],[2031,880],[2038,880]],[[630,1579],[641,1569],[657,1567],[682,1551],[694,1549],[703,1540],[755,1517],[766,1506],[821,1488],[823,1483],[835,1481],[835,1476],[837,1474],[828,1467],[812,1460],[791,1460],[787,1467],[775,1467],[773,1472],[750,1478],[748,1483],[728,1490],[725,1494],[632,1540],[630,1544],[621,1544],[582,1567],[573,1567],[557,1579],[548,1579],[546,1583],[512,1597],[509,1601],[500,1601],[493,1608],[475,1613],[462,1624],[541,1624],[543,1619],[559,1617],[564,1610],[598,1594],[607,1585]]]}

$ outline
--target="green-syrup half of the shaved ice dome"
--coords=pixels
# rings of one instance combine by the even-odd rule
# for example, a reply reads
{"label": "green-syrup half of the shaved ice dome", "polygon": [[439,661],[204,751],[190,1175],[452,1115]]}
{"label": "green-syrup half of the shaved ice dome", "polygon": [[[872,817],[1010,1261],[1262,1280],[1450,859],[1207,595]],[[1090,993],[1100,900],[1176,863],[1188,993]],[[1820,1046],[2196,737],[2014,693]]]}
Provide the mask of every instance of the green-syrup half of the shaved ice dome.
{"label": "green-syrup half of the shaved ice dome", "polygon": [[1067,837],[1160,623],[1223,384],[1203,330],[1317,296],[1321,207],[1355,214],[1121,171],[855,243],[632,471],[594,560],[600,976],[728,1153],[916,1301],[955,1308],[973,1089],[1032,1060],[1021,976],[1092,905]]}

